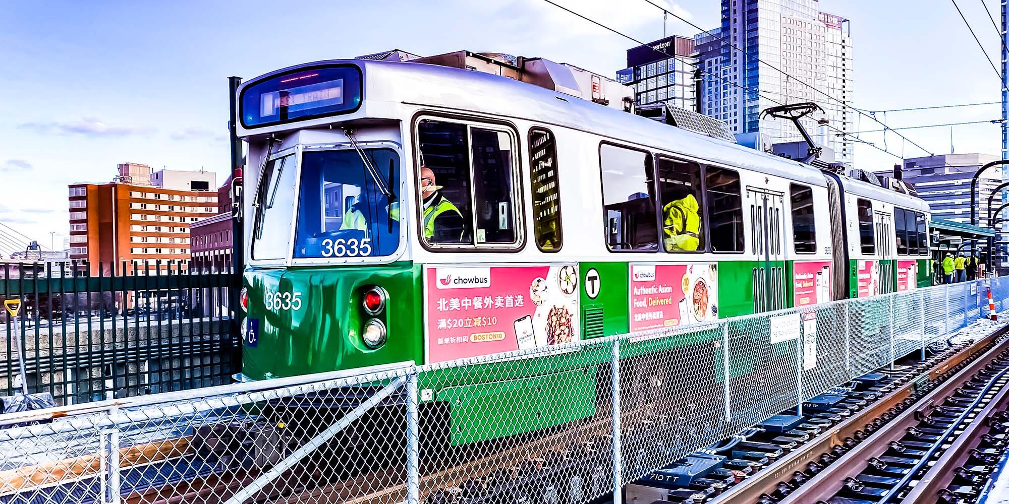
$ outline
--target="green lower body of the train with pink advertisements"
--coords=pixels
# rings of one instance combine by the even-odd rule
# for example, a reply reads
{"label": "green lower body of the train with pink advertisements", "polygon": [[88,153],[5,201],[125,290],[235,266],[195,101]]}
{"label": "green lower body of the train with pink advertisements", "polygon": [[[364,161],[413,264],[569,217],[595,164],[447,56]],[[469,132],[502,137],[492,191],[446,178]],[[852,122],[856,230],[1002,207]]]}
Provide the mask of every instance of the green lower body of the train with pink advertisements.
{"label": "green lower body of the train with pink advertisements", "polygon": [[[760,300],[755,302],[754,297],[755,290],[759,293],[761,289],[760,275],[764,274],[782,276],[778,285],[785,306],[823,302],[830,292],[829,285],[823,283],[830,276],[824,269],[828,265],[829,261],[721,261],[689,265],[579,262],[500,266],[476,268],[475,288],[465,285],[467,288],[458,289],[446,285],[450,279],[460,277],[460,272],[468,271],[465,266],[425,267],[401,261],[378,266],[247,270],[242,374],[260,380],[399,362],[450,360],[451,356],[474,355],[465,352],[477,339],[497,345],[485,348],[499,351],[510,339],[522,340],[525,327],[535,334],[528,336],[529,345],[534,345],[535,340],[535,346],[542,346],[543,324],[555,324],[545,331],[554,339],[545,342],[550,345],[567,341],[565,337],[592,340],[750,314],[760,307]],[[479,284],[484,270],[486,287]],[[926,260],[868,264],[853,260],[850,271],[850,297],[931,284]],[[571,283],[574,272],[577,278]],[[527,277],[534,277],[528,290]],[[490,295],[486,289],[491,278],[497,283],[518,282],[521,288],[513,289],[514,295]],[[438,286],[438,282],[442,285]],[[542,287],[544,284],[549,285]],[[374,285],[387,292],[383,309],[376,314],[366,311],[362,304],[364,292]],[[506,297],[513,300],[504,304]],[[462,299],[458,308],[457,299]],[[544,299],[547,302],[541,302]],[[552,299],[560,300],[552,305]],[[508,320],[497,321],[493,313]],[[518,317],[523,313],[528,316]],[[561,328],[544,322],[564,317],[570,321]],[[361,338],[365,322],[372,319],[387,331],[387,339],[377,348],[370,348]],[[457,341],[449,336],[453,331],[468,333],[470,338]],[[622,360],[647,359],[716,338],[721,338],[717,331],[700,331],[679,338],[635,342],[622,347],[621,356]],[[609,387],[606,377],[610,352],[609,345],[588,345],[578,352],[551,357],[434,370],[421,375],[419,389],[424,391],[423,399],[447,411],[453,445],[530,432],[591,417],[600,405],[608,404],[597,401],[597,397],[608,394],[600,387]],[[713,352],[710,356],[700,352],[697,359],[710,363],[691,363],[692,369],[710,370],[707,380],[723,380],[722,360],[715,359]],[[751,369],[745,362],[730,364],[734,374]],[[645,365],[639,363],[637,367]]]}

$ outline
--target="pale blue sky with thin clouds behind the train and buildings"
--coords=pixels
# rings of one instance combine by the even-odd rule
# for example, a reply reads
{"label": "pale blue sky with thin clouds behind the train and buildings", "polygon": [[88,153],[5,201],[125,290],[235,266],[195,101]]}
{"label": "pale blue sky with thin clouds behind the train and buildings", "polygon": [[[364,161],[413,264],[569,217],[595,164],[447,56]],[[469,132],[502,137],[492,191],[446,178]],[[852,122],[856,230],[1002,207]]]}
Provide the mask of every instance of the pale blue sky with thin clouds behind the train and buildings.
{"label": "pale blue sky with thin clouds behind the train and buildings", "polygon": [[[662,13],[644,0],[556,0],[644,41]],[[958,0],[993,60],[997,0]],[[705,28],[717,0],[662,0]],[[821,0],[852,20],[855,105],[871,110],[992,102],[999,82],[947,0]],[[670,34],[697,30],[670,17]],[[388,48],[458,49],[566,61],[612,76],[633,42],[542,0],[8,2],[0,16],[0,223],[45,246],[67,233],[67,184],[108,181],[118,162],[228,170],[227,77]],[[892,127],[990,120],[997,105],[888,113]],[[882,118],[882,115],[879,115]],[[879,125],[863,119],[861,129]],[[949,128],[906,131],[949,152]],[[925,155],[893,133],[867,141]],[[995,125],[954,129],[957,152],[1000,149]],[[896,158],[858,145],[856,164]]]}

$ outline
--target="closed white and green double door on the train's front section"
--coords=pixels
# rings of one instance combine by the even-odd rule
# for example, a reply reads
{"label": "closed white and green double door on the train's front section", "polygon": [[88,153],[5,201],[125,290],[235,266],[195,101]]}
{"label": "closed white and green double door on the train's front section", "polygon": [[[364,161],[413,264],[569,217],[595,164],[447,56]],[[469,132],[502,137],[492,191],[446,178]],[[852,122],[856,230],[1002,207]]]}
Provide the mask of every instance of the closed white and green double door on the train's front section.
{"label": "closed white and green double door on the train's front section", "polygon": [[785,307],[785,252],[783,193],[747,188],[753,245],[757,256],[753,268],[754,312]]}

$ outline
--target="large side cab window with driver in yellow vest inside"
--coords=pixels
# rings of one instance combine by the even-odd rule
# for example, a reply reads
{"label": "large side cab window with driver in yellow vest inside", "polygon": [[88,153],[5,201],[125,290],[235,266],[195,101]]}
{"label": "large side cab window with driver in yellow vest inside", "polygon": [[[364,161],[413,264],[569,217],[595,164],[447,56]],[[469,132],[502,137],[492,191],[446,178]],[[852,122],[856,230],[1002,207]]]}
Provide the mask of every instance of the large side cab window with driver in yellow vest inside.
{"label": "large side cab window with driver in yellow vest inside", "polygon": [[493,127],[418,125],[422,231],[433,245],[519,245],[515,141]]}

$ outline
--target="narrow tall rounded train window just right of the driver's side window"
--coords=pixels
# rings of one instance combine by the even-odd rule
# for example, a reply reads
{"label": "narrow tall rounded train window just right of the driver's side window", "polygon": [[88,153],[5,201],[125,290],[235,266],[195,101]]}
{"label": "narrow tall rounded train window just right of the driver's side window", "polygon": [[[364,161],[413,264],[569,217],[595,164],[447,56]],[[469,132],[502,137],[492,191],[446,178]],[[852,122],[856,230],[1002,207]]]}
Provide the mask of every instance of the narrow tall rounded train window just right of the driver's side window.
{"label": "narrow tall rounded train window just right of the driver's side window", "polygon": [[561,249],[561,201],[557,181],[557,144],[549,130],[529,131],[529,172],[533,185],[533,234],[544,252]]}

